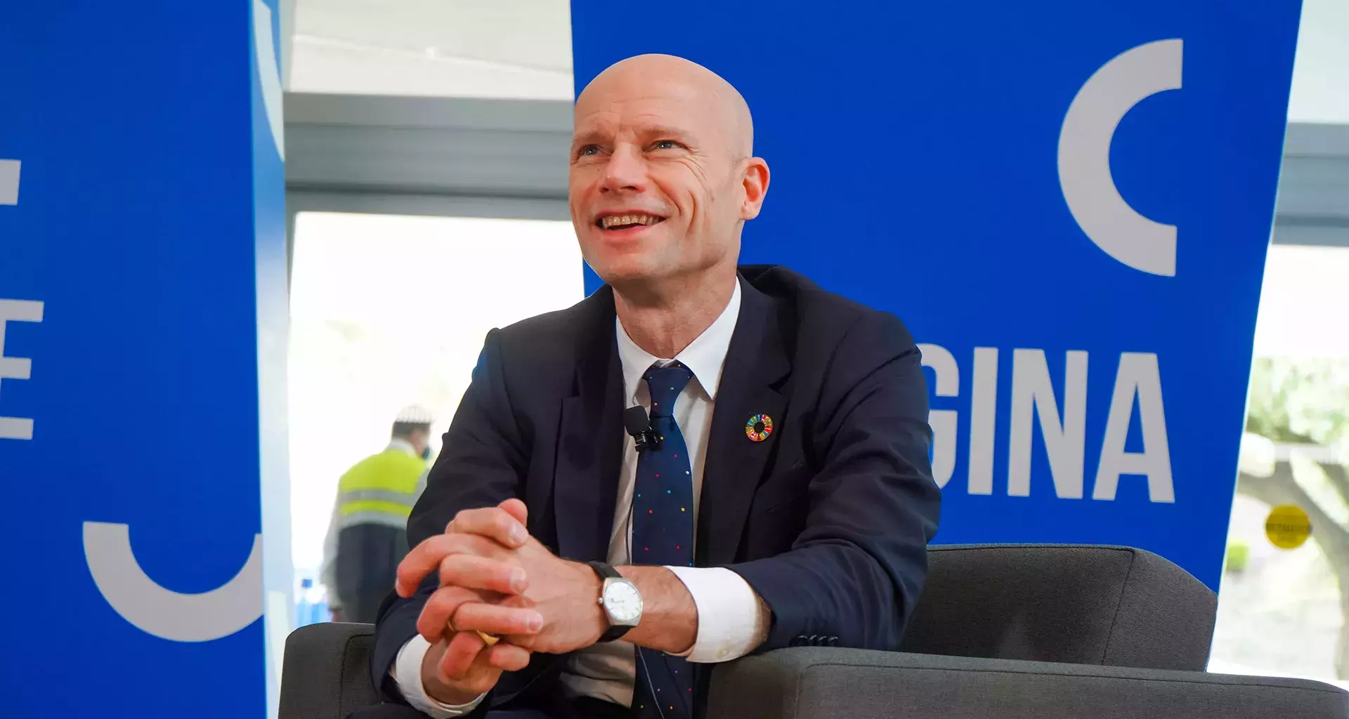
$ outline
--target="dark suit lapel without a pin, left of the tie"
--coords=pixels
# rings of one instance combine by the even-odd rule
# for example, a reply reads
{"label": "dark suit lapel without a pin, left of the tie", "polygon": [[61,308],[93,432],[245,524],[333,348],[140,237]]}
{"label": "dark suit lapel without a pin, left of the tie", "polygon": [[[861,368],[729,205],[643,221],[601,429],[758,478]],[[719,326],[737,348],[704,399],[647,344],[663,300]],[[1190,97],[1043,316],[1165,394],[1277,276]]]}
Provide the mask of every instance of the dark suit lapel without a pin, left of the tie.
{"label": "dark suit lapel without a pin, left of the tie", "polygon": [[614,337],[614,297],[591,295],[595,322],[584,330],[575,395],[563,399],[553,511],[557,546],[572,560],[608,556],[623,457],[623,371]]}

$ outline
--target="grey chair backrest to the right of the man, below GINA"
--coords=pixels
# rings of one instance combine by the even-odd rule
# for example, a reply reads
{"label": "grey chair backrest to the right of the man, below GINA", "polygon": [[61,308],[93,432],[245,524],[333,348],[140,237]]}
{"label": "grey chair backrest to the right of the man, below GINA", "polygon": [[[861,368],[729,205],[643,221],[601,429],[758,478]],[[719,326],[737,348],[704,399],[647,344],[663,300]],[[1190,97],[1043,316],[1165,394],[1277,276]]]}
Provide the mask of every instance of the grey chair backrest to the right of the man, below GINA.
{"label": "grey chair backrest to the right of the man, below GINA", "polygon": [[1202,672],[1218,599],[1141,549],[950,545],[928,550],[901,652]]}

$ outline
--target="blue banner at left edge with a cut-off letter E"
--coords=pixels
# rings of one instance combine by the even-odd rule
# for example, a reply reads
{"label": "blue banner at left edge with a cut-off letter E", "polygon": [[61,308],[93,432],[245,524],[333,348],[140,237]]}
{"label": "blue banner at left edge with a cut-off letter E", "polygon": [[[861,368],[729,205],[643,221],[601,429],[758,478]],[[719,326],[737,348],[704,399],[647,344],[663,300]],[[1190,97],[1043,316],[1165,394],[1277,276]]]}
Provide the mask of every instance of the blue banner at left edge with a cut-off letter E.
{"label": "blue banner at left edge with a cut-off letter E", "polygon": [[278,608],[285,635],[287,509],[259,499],[285,484],[275,15],[4,9],[7,716],[263,716],[268,684],[275,704],[262,616]]}

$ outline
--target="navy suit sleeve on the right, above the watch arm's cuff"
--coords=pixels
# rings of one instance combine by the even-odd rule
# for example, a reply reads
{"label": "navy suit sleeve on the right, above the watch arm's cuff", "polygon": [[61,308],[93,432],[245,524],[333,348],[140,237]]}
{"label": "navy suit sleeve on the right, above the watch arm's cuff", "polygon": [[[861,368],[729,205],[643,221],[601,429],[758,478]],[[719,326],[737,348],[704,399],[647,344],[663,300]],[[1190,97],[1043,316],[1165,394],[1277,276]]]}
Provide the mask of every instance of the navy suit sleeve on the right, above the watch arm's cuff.
{"label": "navy suit sleeve on the right, above the watch arm's cuff", "polygon": [[730,567],[773,612],[758,650],[807,637],[894,649],[923,588],[940,509],[921,359],[896,317],[869,314],[847,332],[809,432],[822,460],[805,529],[791,550]]}

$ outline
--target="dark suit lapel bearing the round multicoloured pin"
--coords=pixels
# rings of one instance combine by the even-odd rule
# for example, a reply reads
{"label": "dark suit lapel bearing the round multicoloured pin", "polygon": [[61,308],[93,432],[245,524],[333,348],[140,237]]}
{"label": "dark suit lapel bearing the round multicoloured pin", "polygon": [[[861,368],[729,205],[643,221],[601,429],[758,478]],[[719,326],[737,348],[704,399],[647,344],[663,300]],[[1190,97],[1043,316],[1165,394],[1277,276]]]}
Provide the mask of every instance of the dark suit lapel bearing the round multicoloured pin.
{"label": "dark suit lapel bearing the round multicoloured pin", "polygon": [[[726,353],[703,464],[699,567],[735,561],[750,500],[786,418],[786,397],[777,389],[791,363],[782,347],[776,302],[749,282],[742,281],[741,287],[741,316]],[[757,414],[766,414],[777,424],[764,441],[753,441],[745,432],[746,422]]]}

